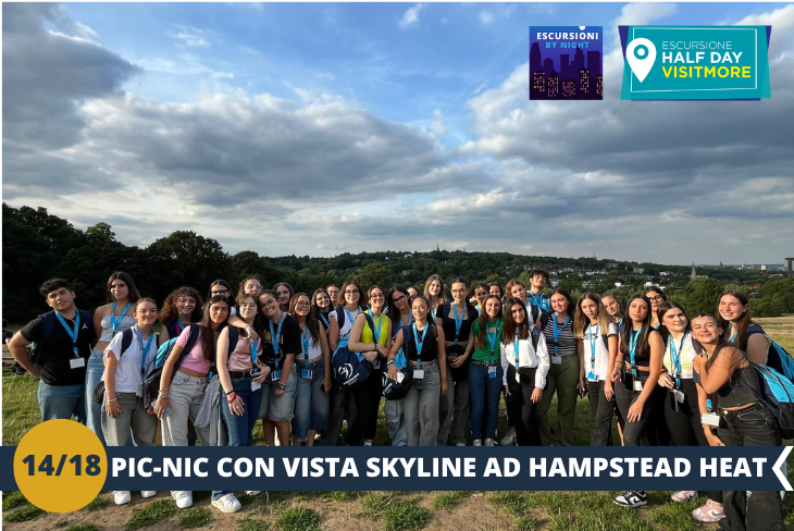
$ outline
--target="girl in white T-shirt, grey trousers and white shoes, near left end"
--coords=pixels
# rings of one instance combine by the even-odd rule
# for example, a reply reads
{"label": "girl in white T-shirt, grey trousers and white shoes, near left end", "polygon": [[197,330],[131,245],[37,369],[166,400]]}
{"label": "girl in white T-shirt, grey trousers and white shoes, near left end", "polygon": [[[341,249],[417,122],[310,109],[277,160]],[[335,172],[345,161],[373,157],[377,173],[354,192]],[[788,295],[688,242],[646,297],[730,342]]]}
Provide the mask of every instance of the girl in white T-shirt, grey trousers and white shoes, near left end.
{"label": "girl in white T-shirt, grey trousers and white shoes, near left end", "polygon": [[[141,298],[135,304],[136,324],[132,331],[119,332],[104,349],[104,404],[102,432],[108,446],[124,446],[132,429],[136,446],[153,446],[157,417],[150,405],[144,405],[144,378],[154,367],[157,302]],[[124,335],[132,332],[132,342],[124,349]],[[91,390],[92,392],[94,390]],[[140,491],[151,497],[156,491]],[[116,505],[129,503],[129,491],[114,491]]]}

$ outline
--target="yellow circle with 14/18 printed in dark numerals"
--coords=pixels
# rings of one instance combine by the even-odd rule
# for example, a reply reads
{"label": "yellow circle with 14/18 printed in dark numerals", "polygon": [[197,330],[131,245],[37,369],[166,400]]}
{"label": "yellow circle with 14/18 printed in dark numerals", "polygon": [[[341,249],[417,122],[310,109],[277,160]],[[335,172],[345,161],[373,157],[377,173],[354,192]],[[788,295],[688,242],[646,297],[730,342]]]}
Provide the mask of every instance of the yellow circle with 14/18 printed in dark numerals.
{"label": "yellow circle with 14/18 printed in dark numerals", "polygon": [[107,476],[104,446],[91,430],[73,420],[38,424],[14,453],[20,491],[48,513],[82,509],[100,493]]}

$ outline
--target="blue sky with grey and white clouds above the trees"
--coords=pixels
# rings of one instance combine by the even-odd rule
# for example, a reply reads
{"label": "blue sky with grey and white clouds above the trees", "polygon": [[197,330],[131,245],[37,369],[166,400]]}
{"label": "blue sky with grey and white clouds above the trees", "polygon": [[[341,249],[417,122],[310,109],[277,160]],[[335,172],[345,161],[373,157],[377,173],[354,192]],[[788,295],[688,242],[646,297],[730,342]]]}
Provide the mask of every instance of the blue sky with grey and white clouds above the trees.
{"label": "blue sky with grey and white clouds above the trees", "polygon": [[[619,24],[771,24],[772,98],[619,101]],[[604,101],[528,99],[603,25]],[[794,4],[4,3],[3,201],[145,246],[794,255]]]}

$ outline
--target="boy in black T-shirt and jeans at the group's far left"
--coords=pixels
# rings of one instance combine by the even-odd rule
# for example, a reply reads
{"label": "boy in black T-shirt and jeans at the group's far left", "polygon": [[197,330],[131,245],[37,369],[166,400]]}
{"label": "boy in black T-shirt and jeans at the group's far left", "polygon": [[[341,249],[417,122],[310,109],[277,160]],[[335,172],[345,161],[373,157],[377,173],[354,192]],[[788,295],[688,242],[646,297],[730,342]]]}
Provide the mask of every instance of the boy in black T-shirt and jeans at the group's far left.
{"label": "boy in black T-shirt and jeans at the group's far left", "polygon": [[[75,294],[63,279],[45,282],[39,292],[52,311],[14,334],[9,350],[30,374],[41,376],[41,422],[72,417],[85,422],[86,360],[96,338],[94,318],[74,306]],[[25,348],[32,343],[36,343],[33,358]]]}

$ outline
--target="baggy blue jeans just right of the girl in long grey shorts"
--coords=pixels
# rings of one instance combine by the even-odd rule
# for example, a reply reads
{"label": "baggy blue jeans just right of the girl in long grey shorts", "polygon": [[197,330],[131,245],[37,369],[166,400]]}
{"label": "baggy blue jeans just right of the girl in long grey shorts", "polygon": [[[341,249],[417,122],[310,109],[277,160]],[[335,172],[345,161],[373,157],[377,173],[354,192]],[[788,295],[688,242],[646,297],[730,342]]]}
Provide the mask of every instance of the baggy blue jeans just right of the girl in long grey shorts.
{"label": "baggy blue jeans just right of the girl in long grey shorts", "polygon": [[[300,378],[305,369],[302,362],[296,362],[293,372],[298,376],[295,393],[295,417],[293,417],[293,435],[303,442],[309,436],[309,430],[324,430],[328,427],[331,409],[330,396],[323,393],[322,384],[325,378],[325,362],[320,360],[310,363],[311,379]],[[372,376],[370,376],[372,378]],[[330,390],[328,390],[330,391]]]}

